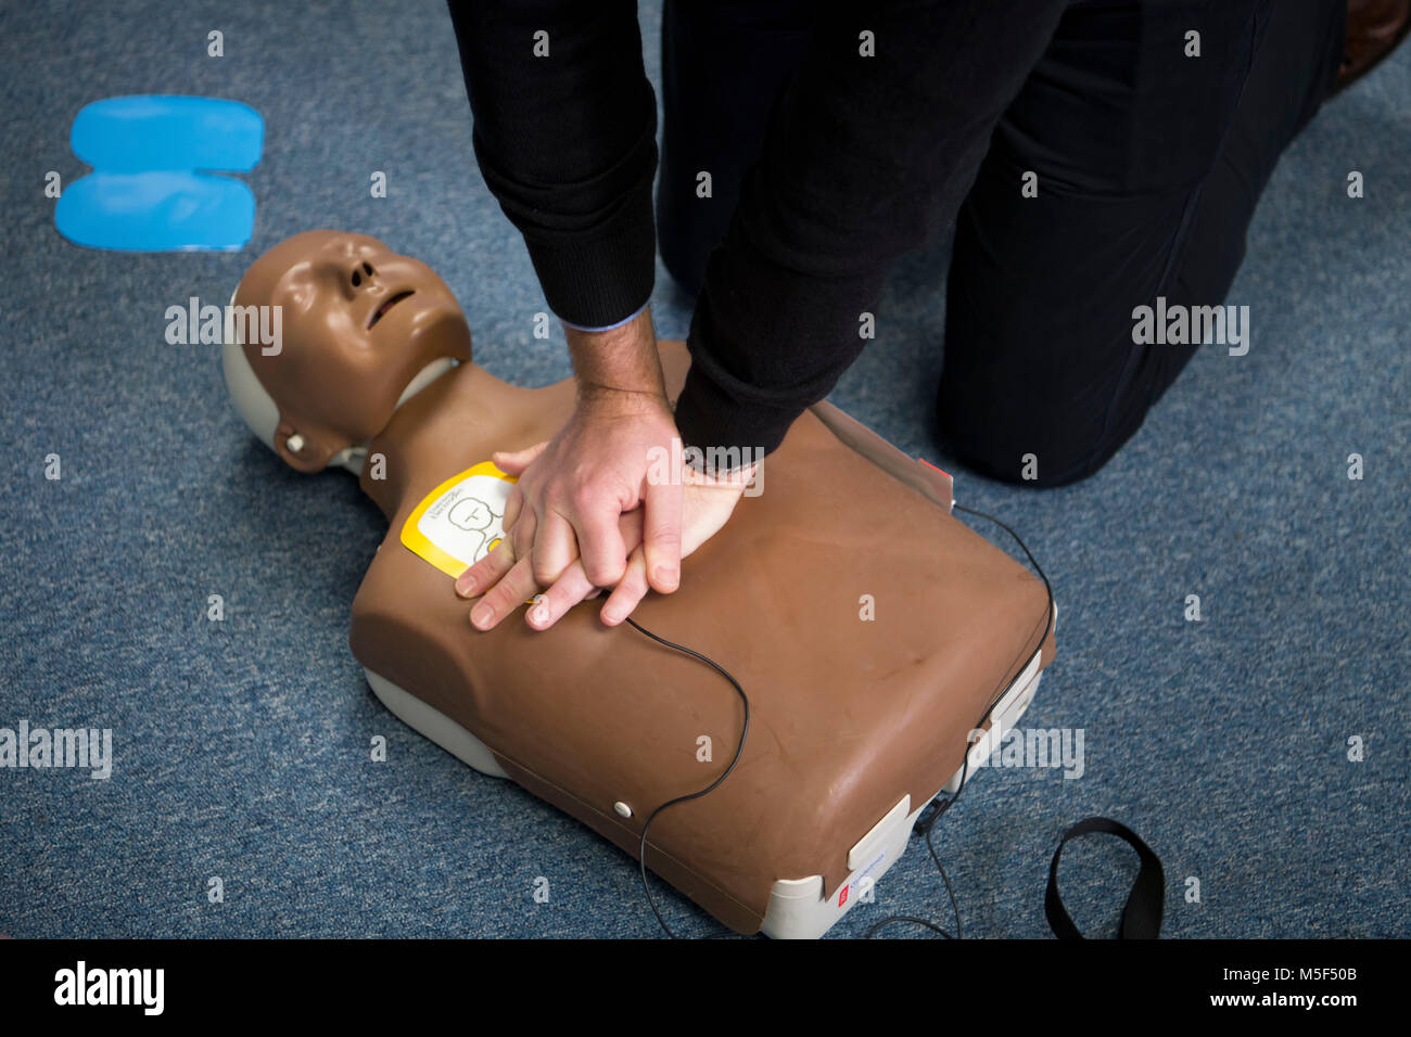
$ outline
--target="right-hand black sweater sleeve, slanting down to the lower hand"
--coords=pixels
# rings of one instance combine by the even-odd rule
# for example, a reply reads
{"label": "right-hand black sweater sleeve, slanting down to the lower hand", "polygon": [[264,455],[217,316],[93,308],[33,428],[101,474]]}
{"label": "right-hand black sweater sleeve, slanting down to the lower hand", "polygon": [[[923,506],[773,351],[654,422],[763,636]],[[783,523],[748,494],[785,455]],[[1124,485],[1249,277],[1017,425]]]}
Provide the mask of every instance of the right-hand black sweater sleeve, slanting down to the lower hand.
{"label": "right-hand black sweater sleeve, slanting down to the lower hand", "polygon": [[896,258],[954,220],[1065,6],[849,4],[820,20],[706,268],[676,408],[687,444],[768,453],[832,389]]}

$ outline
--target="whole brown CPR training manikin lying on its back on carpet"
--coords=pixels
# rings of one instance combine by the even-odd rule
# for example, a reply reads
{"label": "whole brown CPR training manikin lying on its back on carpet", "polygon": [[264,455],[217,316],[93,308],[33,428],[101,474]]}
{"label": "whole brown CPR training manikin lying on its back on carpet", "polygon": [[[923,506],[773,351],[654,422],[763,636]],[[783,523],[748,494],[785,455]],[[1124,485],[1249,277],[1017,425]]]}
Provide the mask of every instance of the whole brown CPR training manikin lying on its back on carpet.
{"label": "whole brown CPR training manikin lying on its back on carpet", "polygon": [[[353,601],[373,691],[636,858],[652,811],[729,765],[741,697],[593,602],[545,631],[478,631],[454,591],[502,533],[511,483],[491,454],[552,439],[571,380],[528,389],[477,367],[442,279],[361,234],[282,241],[231,303],[224,374],[251,430],[299,471],[353,471],[389,522]],[[281,308],[278,348],[243,332],[247,306]],[[660,353],[674,398],[690,357]],[[634,612],[749,705],[737,766],[652,821],[645,862],[737,933],[818,937],[1029,705],[1054,615],[1038,578],[952,516],[947,475],[835,406],[761,464],[762,492],[683,562],[680,588]]]}

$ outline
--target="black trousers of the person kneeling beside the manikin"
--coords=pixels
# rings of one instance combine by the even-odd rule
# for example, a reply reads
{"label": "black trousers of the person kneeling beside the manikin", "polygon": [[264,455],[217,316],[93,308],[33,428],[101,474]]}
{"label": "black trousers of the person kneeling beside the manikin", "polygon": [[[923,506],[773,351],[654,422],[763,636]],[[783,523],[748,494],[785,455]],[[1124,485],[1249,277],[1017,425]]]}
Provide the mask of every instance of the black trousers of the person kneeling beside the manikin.
{"label": "black trousers of the person kneeling beside the manikin", "polygon": [[[693,293],[809,8],[666,1],[658,234]],[[950,454],[1061,485],[1132,437],[1199,348],[1136,344],[1133,309],[1225,302],[1268,175],[1332,86],[1345,23],[1346,0],[1068,10],[957,216],[937,396]],[[1187,31],[1199,56],[1171,47]],[[696,169],[713,171],[717,205],[691,203],[682,174]],[[1036,198],[1022,195],[1026,172]]]}

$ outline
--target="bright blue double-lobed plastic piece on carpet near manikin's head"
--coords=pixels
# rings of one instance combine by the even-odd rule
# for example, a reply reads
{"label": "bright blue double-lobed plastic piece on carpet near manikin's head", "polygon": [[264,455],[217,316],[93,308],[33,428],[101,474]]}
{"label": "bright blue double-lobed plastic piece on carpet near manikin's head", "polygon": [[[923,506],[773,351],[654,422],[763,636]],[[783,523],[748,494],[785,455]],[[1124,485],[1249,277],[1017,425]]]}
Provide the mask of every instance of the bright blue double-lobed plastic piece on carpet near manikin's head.
{"label": "bright blue double-lobed plastic piece on carpet near manikin's head", "polygon": [[58,231],[116,251],[238,250],[254,233],[254,193],[209,172],[248,172],[264,148],[264,120],[217,97],[107,97],[85,106],[69,134],[93,172],[55,206]]}

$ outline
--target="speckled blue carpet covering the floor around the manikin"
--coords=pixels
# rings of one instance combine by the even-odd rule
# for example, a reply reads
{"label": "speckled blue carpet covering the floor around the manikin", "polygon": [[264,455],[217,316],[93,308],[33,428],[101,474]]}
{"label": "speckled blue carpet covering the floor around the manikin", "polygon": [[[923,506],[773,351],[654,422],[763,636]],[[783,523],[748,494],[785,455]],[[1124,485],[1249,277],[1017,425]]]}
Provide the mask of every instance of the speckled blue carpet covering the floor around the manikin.
{"label": "speckled blue carpet covering the floor around the manikin", "polygon": [[[111,728],[116,758],[109,780],[0,770],[0,933],[655,935],[625,855],[373,698],[347,621],[380,515],[351,478],[295,475],[247,435],[217,348],[164,340],[168,306],[223,303],[260,251],[341,227],[436,268],[495,374],[570,374],[560,333],[532,337],[543,301],[476,169],[444,10],[120,7],[0,10],[0,727]],[[656,4],[642,24],[655,78]],[[216,28],[223,58],[206,56]],[[243,253],[87,251],[55,233],[44,174],[82,175],[73,114],[124,93],[264,116]],[[959,474],[959,501],[1022,532],[1060,602],[1058,659],[1026,725],[1086,738],[1081,779],[985,770],[937,830],[968,935],[1047,934],[1048,855],[1095,813],[1165,861],[1168,935],[1411,935],[1408,100],[1411,47],[1285,155],[1230,295],[1253,312],[1247,357],[1202,351],[1077,487]],[[1345,195],[1349,169],[1362,200]],[[370,198],[373,171],[388,198]],[[940,244],[902,265],[879,340],[832,395],[943,464],[928,426],[945,261]],[[684,334],[689,301],[665,271],[655,308],[663,337]],[[206,619],[212,594],[224,622]],[[1202,622],[1184,621],[1188,594]],[[385,763],[368,759],[375,735]],[[1133,875],[1115,841],[1075,845],[1064,892],[1079,924],[1110,931]],[[837,933],[943,904],[913,844]],[[715,930],[672,893],[663,910],[687,934]]]}

